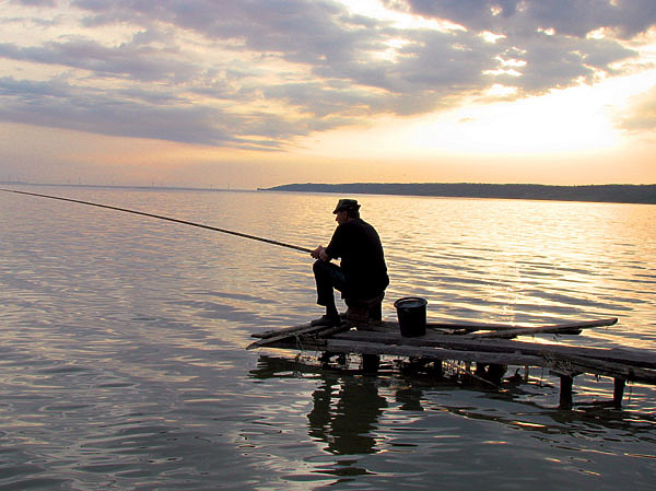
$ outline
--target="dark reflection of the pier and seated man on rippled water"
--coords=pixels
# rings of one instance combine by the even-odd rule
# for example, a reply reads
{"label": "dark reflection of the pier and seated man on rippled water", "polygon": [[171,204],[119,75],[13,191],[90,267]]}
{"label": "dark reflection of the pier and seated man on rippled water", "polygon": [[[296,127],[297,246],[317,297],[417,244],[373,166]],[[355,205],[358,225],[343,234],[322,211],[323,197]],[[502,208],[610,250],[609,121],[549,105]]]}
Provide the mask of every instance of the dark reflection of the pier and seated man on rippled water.
{"label": "dark reflection of the pier and seated man on rippled water", "polygon": [[[313,409],[307,414],[308,434],[315,441],[326,442],[325,449],[335,455],[372,454],[380,451],[379,440],[384,437],[376,436],[382,431],[380,417],[385,412],[397,410],[414,413],[423,411],[426,416],[446,411],[469,420],[520,428],[529,433],[586,434],[594,437],[598,429],[604,428],[620,431],[624,436],[631,435],[639,441],[651,434],[656,424],[653,408],[649,407],[647,411],[617,409],[612,401],[608,400],[608,396],[604,396],[604,400],[599,401],[579,395],[574,410],[561,410],[555,406],[544,407],[530,400],[532,395],[538,400],[550,398],[557,402],[558,387],[552,384],[541,384],[540,393],[535,394],[509,382],[504,382],[502,387],[499,387],[500,390],[494,390],[476,378],[454,381],[396,370],[376,377],[364,375],[359,370],[326,370],[312,363],[268,355],[260,355],[258,369],[251,371],[250,376],[280,378],[295,377],[300,373],[319,377],[320,383],[312,395]],[[632,396],[634,398],[639,397],[637,388],[635,387]],[[477,399],[475,406],[450,405],[445,404],[446,400],[435,398],[435,389],[441,393],[445,389],[465,389],[484,398]],[[551,395],[542,396],[541,393]],[[482,404],[485,399],[494,401],[493,409]],[[641,400],[640,406],[647,405]]]}

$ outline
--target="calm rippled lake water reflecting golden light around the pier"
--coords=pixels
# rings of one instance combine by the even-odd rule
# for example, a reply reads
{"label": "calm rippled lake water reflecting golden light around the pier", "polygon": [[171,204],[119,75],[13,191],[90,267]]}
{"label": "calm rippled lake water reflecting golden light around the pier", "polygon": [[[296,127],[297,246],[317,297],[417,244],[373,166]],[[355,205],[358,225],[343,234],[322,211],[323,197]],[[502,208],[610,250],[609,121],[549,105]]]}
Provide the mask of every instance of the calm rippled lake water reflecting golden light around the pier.
{"label": "calm rippled lake water reflecting golden light around the pier", "polygon": [[[20,187],[326,245],[338,196]],[[656,207],[356,196],[384,242],[384,316],[408,295],[430,320],[619,317],[579,346],[656,351]],[[246,351],[302,324],[312,259],[82,204],[0,192],[1,490],[646,490],[656,390],[547,371],[503,391],[321,371]],[[308,353],[314,355],[317,353]],[[307,362],[307,363],[304,363]],[[356,363],[356,360],[353,361]],[[511,375],[512,372],[508,372]]]}

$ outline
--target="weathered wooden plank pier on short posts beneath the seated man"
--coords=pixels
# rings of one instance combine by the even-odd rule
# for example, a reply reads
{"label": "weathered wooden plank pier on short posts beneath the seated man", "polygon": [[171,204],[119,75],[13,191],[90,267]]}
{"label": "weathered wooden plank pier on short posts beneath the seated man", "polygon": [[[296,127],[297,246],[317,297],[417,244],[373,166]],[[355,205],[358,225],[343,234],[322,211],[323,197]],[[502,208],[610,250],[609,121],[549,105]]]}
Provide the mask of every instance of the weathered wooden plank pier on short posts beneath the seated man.
{"label": "weathered wooden plank pier on short posts beneath the seated man", "polygon": [[362,355],[363,369],[376,370],[379,355],[403,356],[433,363],[437,375],[449,361],[475,364],[472,376],[501,382],[507,365],[544,367],[560,377],[560,408],[573,406],[576,375],[588,373],[614,379],[613,406],[620,408],[626,382],[656,385],[656,353],[623,348],[584,348],[517,340],[518,336],[544,334],[576,336],[582,329],[612,326],[617,318],[539,327],[480,323],[430,323],[426,332],[403,337],[396,322],[345,320],[338,327],[309,324],[254,334],[259,338],[248,349],[280,348],[330,354]]}

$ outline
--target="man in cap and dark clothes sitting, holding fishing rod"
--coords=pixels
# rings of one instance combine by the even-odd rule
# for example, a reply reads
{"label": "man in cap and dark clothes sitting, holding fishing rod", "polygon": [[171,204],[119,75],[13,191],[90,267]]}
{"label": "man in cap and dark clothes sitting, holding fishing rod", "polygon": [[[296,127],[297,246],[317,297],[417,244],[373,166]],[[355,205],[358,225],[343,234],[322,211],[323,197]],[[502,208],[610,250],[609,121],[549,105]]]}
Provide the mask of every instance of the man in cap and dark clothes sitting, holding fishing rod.
{"label": "man in cap and dark clothes sitting, holding fishing rod", "polygon": [[[360,218],[360,204],[354,199],[340,199],[335,208],[338,223],[328,247],[318,246],[311,253],[317,259],[313,266],[317,283],[317,304],[326,314],[313,320],[314,326],[339,326],[333,289],[342,297],[372,299],[389,284],[380,237],[376,230]],[[331,259],[341,259],[340,266]]]}

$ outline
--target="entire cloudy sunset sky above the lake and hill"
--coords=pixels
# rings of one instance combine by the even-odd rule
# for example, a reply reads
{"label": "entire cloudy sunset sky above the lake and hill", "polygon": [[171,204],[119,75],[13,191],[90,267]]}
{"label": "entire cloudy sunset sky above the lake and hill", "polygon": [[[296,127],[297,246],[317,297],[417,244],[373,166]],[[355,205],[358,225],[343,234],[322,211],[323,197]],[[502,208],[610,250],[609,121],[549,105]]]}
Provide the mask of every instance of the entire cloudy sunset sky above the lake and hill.
{"label": "entire cloudy sunset sky above the lake and hill", "polygon": [[654,0],[0,0],[0,180],[656,183]]}

